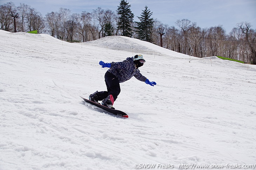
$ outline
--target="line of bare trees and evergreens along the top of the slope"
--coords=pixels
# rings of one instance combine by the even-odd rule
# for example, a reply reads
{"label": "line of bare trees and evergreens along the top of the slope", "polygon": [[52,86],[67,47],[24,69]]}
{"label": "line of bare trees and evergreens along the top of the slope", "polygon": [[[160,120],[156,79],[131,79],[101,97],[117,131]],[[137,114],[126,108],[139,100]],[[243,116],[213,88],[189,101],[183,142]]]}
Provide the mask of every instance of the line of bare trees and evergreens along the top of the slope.
{"label": "line of bare trees and evergreens along the top of the slope", "polygon": [[248,22],[240,22],[228,34],[222,25],[201,28],[188,19],[177,20],[175,26],[169,26],[153,19],[153,12],[146,6],[139,22],[134,22],[134,14],[127,1],[121,0],[116,11],[98,7],[91,13],[71,13],[60,8],[57,12],[42,16],[35,8],[13,2],[0,6],[1,30],[14,32],[38,30],[55,38],[69,42],[87,42],[106,36],[122,35],[138,38],[160,45],[159,28],[164,30],[162,44],[164,48],[195,57],[222,56],[256,64],[256,30]]}

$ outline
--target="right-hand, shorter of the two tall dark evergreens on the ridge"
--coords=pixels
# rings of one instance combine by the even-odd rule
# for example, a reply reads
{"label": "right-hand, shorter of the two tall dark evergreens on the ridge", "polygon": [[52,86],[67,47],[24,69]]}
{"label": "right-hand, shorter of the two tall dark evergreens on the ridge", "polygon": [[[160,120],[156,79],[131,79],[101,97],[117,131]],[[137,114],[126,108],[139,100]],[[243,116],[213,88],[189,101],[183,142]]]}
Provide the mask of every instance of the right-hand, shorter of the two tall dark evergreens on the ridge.
{"label": "right-hand, shorter of the two tall dark evergreens on the ridge", "polygon": [[140,22],[135,22],[137,24],[137,27],[134,27],[137,29],[137,38],[143,41],[147,41],[152,43],[152,34],[153,34],[153,24],[154,20],[153,18],[150,18],[153,12],[150,12],[148,7],[145,7],[145,10],[142,10],[141,17],[138,17],[140,19]]}

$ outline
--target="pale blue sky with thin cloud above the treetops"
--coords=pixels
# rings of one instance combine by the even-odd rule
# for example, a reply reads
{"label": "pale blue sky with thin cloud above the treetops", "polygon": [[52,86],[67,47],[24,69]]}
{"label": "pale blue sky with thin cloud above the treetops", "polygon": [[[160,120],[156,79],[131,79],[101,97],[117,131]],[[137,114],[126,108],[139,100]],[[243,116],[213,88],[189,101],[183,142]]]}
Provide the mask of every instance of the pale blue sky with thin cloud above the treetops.
{"label": "pale blue sky with thin cloud above the treetops", "polygon": [[[16,6],[25,3],[43,16],[57,12],[59,8],[70,9],[72,13],[92,12],[101,7],[116,11],[121,0],[0,0],[0,5],[13,2]],[[222,25],[229,33],[237,23],[250,22],[256,29],[256,0],[127,0],[131,5],[134,20],[138,21],[145,6],[153,12],[151,17],[163,24],[175,26],[177,20],[188,19],[201,28]]]}

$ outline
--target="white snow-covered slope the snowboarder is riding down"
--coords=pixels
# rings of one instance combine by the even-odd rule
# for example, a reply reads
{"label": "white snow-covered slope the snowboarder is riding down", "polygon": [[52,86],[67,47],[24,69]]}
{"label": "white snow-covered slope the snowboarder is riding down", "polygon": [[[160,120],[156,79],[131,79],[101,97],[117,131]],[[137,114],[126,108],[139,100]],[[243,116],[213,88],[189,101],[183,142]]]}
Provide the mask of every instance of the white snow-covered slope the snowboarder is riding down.
{"label": "white snow-covered slope the snowboarder is riding down", "polygon": [[[141,73],[157,85],[120,84],[114,107],[129,118],[82,102],[106,89],[100,60],[137,51]],[[0,77],[0,170],[256,163],[255,65],[121,36],[67,43],[0,30]]]}

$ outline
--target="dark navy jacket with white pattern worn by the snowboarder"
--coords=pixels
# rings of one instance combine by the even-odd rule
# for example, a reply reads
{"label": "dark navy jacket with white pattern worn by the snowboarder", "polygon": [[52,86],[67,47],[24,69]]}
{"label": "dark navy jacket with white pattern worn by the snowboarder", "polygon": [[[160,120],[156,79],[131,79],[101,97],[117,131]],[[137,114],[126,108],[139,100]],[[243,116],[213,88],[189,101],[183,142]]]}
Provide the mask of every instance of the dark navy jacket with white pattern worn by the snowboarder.
{"label": "dark navy jacket with white pattern worn by the snowboarder", "polygon": [[136,69],[133,57],[128,57],[122,62],[112,62],[108,72],[114,74],[118,78],[119,83],[129,80],[133,76],[143,82],[147,79],[140,73],[139,69]]}

